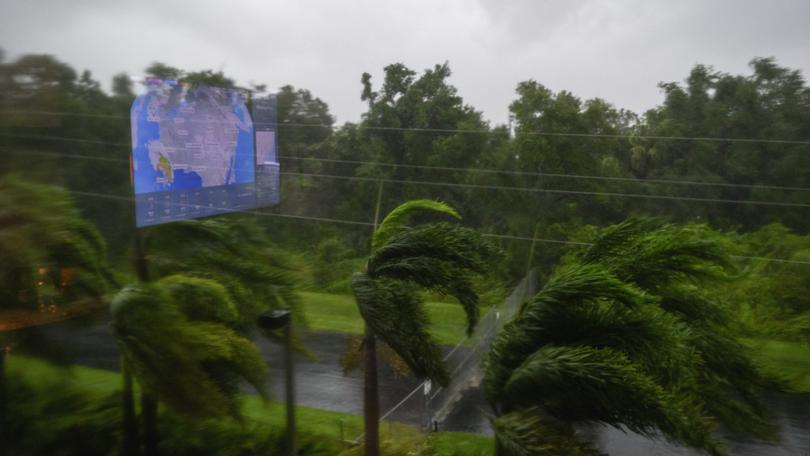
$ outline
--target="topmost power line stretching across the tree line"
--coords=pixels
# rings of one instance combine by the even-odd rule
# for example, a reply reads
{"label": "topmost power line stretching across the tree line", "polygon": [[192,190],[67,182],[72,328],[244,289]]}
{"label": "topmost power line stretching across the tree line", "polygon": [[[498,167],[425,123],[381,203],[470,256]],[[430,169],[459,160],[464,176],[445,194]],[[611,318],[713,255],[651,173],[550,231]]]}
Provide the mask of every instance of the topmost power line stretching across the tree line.
{"label": "topmost power line stretching across the tree line", "polygon": [[[75,117],[100,117],[100,118],[117,118],[129,119],[127,116],[120,115],[106,115],[106,114],[92,114],[92,113],[77,113],[77,112],[58,112],[58,111],[27,111],[27,110],[3,110],[2,113],[9,114],[29,114],[29,115],[48,115],[48,116],[75,116]],[[200,121],[207,122],[207,121]],[[294,123],[294,122],[256,122],[254,125],[264,126],[278,126],[278,127],[301,127],[301,128],[328,128],[335,129],[336,127],[330,124],[321,123]],[[422,133],[464,133],[464,134],[501,134],[500,131],[490,129],[474,129],[474,128],[419,128],[419,127],[385,127],[375,125],[357,125],[360,129],[377,130],[377,131],[412,131]],[[761,144],[793,144],[793,145],[810,145],[807,140],[793,140],[793,139],[768,139],[768,138],[728,138],[718,136],[668,136],[668,135],[634,135],[634,134],[610,134],[610,133],[575,133],[575,132],[552,132],[552,131],[539,131],[539,130],[523,130],[520,133],[531,136],[549,136],[549,137],[573,137],[573,138],[592,138],[592,139],[644,139],[656,141],[706,141],[706,142],[739,142],[739,143],[761,143]]]}

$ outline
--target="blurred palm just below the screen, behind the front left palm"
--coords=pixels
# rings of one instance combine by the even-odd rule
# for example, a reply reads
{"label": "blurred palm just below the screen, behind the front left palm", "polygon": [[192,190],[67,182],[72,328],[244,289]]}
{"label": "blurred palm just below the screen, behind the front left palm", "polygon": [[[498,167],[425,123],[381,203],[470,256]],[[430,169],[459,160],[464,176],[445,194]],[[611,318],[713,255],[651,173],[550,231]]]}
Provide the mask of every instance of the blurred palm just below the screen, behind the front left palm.
{"label": "blurred palm just below the screen, behind the front left palm", "polygon": [[[149,228],[143,238],[145,255],[140,267],[144,277],[165,278],[182,274],[186,281],[196,278],[216,282],[221,284],[233,307],[232,315],[223,320],[221,314],[200,314],[199,307],[185,306],[186,318],[225,324],[245,337],[255,325],[256,317],[269,309],[291,309],[294,319],[303,324],[297,311],[299,297],[295,293],[295,268],[270,245],[253,219],[226,216],[176,222]],[[195,296],[198,300],[212,299],[199,293]],[[240,376],[230,374],[228,366],[206,362],[204,368],[218,379],[219,387],[236,391]],[[131,404],[132,392],[127,387],[127,378],[125,369],[124,403]],[[153,387],[145,388],[142,394],[145,444],[152,454],[157,444],[155,421],[159,392],[160,389]],[[125,411],[127,408],[131,407],[125,406]],[[236,410],[231,412],[235,414]],[[125,416],[125,422],[127,420],[133,418]]]}

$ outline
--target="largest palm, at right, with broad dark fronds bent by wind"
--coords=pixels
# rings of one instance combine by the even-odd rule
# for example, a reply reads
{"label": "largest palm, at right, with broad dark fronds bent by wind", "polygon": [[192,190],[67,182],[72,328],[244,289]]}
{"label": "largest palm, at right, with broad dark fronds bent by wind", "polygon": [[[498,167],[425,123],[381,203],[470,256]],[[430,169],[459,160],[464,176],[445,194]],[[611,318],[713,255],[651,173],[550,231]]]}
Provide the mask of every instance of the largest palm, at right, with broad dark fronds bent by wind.
{"label": "largest palm, at right, with broad dark fronds bent by wind", "polygon": [[728,267],[706,227],[631,219],[600,233],[493,344],[484,387],[497,453],[594,453],[576,438],[577,423],[713,454],[724,452],[717,422],[772,435],[756,400],[768,381],[698,287]]}

